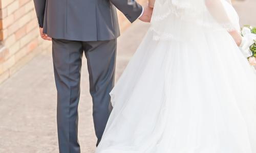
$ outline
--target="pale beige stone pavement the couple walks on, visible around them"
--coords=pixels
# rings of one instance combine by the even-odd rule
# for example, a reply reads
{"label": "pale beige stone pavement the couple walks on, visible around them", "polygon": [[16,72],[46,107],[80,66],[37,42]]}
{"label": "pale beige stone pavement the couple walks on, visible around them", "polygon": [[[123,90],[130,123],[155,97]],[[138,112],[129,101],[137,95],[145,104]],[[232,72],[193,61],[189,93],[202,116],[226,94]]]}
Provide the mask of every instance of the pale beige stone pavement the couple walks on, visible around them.
{"label": "pale beige stone pavement the couple walks on, visible around them", "polygon": [[[256,25],[255,0],[234,2],[234,6],[241,24]],[[137,21],[118,39],[117,79],[147,29],[147,23]],[[96,139],[85,58],[81,78],[79,142],[82,153],[92,153]],[[47,52],[0,85],[0,152],[57,153],[57,144],[56,89],[51,53]]]}

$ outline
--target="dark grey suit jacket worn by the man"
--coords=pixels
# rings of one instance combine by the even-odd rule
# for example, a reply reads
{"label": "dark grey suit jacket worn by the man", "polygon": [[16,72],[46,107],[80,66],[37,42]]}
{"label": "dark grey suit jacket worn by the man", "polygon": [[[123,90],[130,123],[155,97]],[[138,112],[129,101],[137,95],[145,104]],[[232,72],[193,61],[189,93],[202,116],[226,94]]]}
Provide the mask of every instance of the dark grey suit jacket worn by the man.
{"label": "dark grey suit jacket worn by the man", "polygon": [[120,35],[116,8],[131,22],[142,12],[127,0],[34,0],[38,23],[55,39],[97,41]]}

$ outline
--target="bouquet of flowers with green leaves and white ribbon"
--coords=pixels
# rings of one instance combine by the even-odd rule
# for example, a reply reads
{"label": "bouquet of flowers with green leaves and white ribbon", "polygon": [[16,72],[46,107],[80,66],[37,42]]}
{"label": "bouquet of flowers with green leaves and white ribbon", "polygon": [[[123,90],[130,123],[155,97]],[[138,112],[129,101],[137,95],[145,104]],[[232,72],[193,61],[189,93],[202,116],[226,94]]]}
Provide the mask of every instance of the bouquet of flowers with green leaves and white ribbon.
{"label": "bouquet of flowers with green leaves and white ribbon", "polygon": [[244,56],[248,58],[251,65],[256,65],[256,27],[244,25],[241,30],[243,36],[240,49]]}

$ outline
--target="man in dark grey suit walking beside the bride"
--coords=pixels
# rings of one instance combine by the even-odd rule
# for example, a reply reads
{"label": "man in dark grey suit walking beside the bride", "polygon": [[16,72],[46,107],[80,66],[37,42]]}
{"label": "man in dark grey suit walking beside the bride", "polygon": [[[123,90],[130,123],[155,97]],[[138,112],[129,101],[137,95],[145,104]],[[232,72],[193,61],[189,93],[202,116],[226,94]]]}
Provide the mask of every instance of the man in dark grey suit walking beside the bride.
{"label": "man in dark grey suit walking beside the bride", "polygon": [[52,40],[57,87],[59,151],[77,153],[78,102],[82,55],[87,58],[97,144],[108,121],[114,86],[117,7],[131,22],[149,22],[152,9],[127,0],[34,0],[41,37]]}

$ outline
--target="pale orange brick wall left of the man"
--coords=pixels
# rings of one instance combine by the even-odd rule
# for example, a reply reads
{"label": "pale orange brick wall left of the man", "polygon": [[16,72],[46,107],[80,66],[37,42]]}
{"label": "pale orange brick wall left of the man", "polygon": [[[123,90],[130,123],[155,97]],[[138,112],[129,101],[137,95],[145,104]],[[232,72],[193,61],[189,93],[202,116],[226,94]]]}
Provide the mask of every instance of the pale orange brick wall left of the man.
{"label": "pale orange brick wall left of the man", "polygon": [[0,0],[0,83],[42,50],[38,31],[33,0]]}

